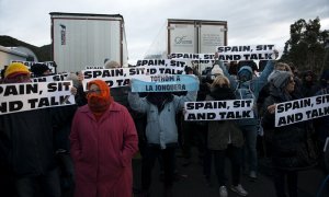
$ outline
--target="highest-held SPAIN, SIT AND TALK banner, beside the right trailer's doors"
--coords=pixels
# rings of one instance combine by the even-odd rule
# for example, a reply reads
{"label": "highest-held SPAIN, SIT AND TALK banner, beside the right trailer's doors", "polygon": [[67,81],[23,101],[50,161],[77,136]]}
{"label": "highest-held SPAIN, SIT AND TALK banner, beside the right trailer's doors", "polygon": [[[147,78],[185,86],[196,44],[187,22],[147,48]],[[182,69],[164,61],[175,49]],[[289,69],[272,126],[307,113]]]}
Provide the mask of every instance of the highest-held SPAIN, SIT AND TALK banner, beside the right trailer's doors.
{"label": "highest-held SPAIN, SIT AND TALK banner, beside the right trailer's doors", "polygon": [[274,45],[218,46],[218,60],[271,60],[275,59]]}

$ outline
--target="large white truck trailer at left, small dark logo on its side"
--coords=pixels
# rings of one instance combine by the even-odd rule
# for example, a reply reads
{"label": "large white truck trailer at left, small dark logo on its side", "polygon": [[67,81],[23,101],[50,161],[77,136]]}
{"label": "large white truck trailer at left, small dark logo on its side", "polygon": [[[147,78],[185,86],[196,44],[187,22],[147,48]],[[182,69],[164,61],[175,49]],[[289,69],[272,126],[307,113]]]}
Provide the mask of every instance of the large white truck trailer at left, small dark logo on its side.
{"label": "large white truck trailer at left, small dark logo on its side", "polygon": [[104,66],[105,60],[128,65],[124,19],[120,14],[50,12],[53,60],[60,71]]}

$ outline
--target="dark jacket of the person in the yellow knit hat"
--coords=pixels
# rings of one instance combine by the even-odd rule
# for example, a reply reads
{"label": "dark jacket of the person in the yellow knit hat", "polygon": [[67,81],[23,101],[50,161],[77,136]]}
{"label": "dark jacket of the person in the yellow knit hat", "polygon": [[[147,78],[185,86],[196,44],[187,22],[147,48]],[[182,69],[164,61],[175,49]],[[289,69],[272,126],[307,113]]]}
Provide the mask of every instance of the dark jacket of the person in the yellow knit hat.
{"label": "dark jacket of the person in the yellow knit hat", "polygon": [[42,175],[56,166],[53,127],[75,113],[76,107],[20,112],[0,116],[0,165],[18,176]]}

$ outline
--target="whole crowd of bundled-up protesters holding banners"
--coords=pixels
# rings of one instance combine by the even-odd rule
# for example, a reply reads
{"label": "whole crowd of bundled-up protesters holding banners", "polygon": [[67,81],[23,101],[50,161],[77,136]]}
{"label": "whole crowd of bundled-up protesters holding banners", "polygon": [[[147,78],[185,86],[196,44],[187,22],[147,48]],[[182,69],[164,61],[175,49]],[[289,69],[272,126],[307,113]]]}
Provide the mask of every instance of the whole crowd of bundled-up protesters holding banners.
{"label": "whole crowd of bundled-up protesters holding banners", "polygon": [[[115,61],[105,62],[105,69],[120,67]],[[173,196],[178,151],[188,166],[191,147],[196,144],[207,182],[214,159],[220,197],[228,196],[228,188],[248,196],[240,178],[242,173],[258,178],[260,151],[270,159],[276,196],[297,197],[299,171],[317,164],[326,171],[328,161],[320,149],[329,137],[329,116],[274,127],[275,105],[328,94],[329,70],[317,80],[310,70],[298,74],[292,65],[275,60],[269,60],[260,76],[253,69],[250,65],[216,62],[202,76],[196,67],[188,67],[186,74],[198,77],[200,89],[183,93],[133,93],[129,86],[110,89],[102,80],[89,82],[84,91],[81,71],[69,73],[76,105],[0,115],[0,195],[133,196],[132,159],[139,150],[138,195],[158,196],[150,194],[150,185],[155,162],[159,161],[163,196]],[[31,72],[34,77],[52,74],[46,65],[29,70],[14,62],[1,73],[1,83],[31,82]],[[246,99],[254,101],[254,118],[182,118],[184,102]],[[264,141],[262,150],[258,150],[257,140]],[[226,155],[231,160],[230,184]]]}

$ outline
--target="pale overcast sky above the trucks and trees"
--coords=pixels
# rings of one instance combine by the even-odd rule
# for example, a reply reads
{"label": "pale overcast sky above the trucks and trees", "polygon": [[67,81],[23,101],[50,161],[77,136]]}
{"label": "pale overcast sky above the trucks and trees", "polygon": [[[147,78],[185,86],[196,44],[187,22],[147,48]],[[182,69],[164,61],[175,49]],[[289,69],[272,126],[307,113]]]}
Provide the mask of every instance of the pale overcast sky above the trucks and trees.
{"label": "pale overcast sky above the trucks and trees", "polygon": [[228,45],[275,44],[290,25],[319,16],[329,30],[329,0],[0,0],[0,35],[50,44],[49,12],[121,14],[131,62],[143,59],[167,19],[227,21]]}

